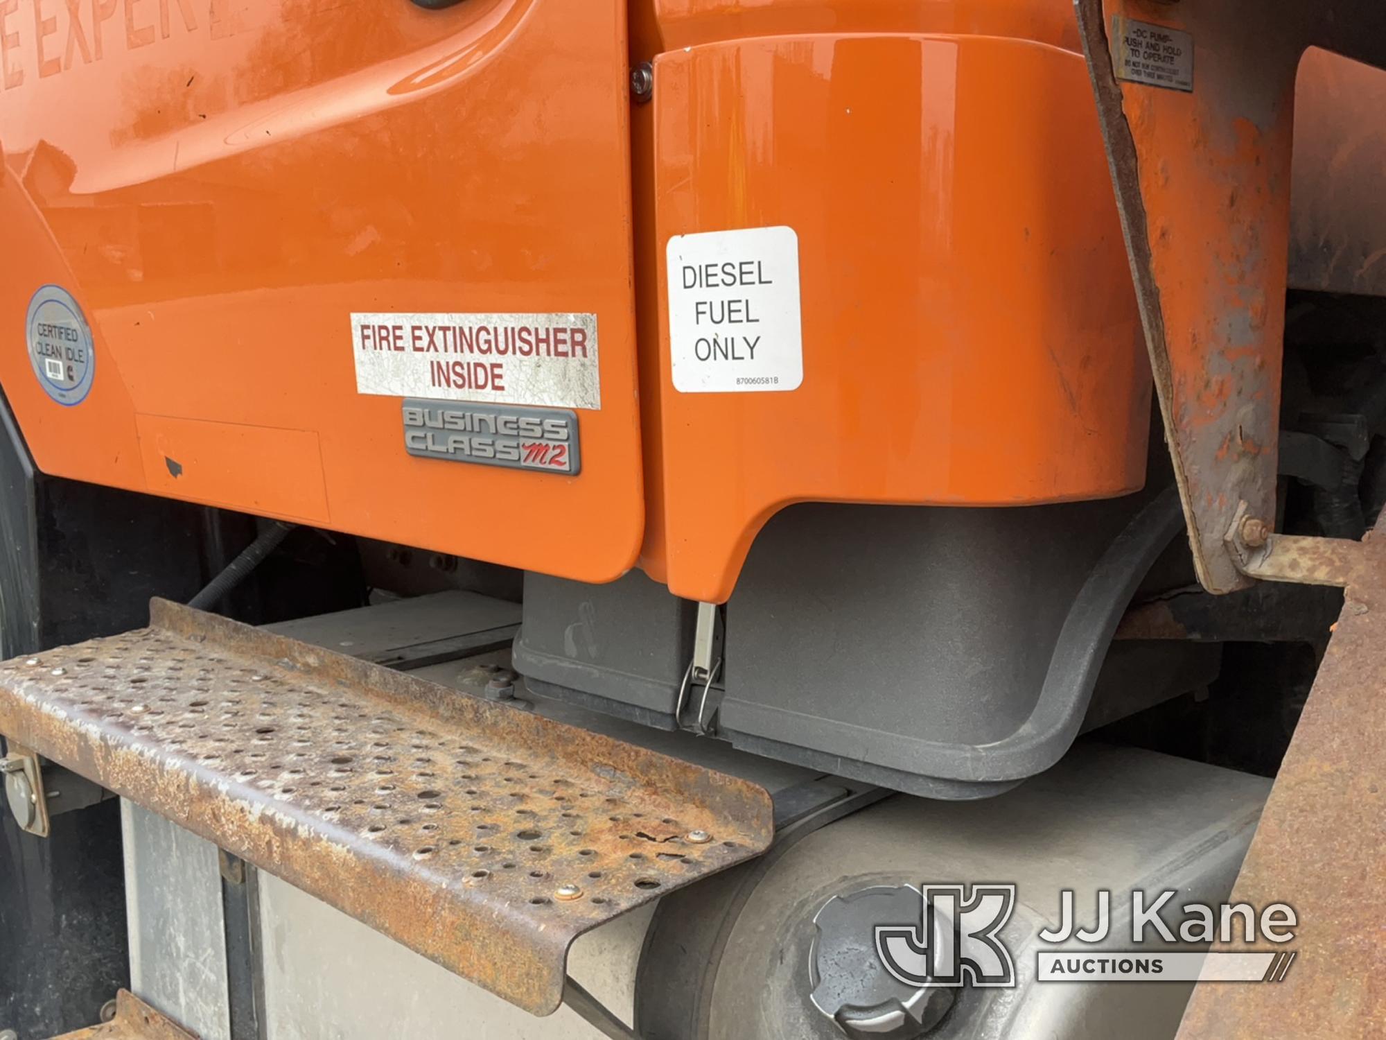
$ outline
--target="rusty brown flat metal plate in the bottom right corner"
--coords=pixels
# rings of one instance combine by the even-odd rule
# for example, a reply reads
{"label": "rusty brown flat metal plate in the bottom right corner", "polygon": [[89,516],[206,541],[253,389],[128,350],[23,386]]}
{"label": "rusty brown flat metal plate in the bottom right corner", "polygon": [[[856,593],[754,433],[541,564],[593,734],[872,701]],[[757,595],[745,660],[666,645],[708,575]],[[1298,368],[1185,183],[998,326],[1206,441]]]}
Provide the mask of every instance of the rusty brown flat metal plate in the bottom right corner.
{"label": "rusty brown flat metal plate in the bottom right corner", "polygon": [[1232,889],[1295,907],[1293,971],[1274,986],[1198,986],[1179,1040],[1386,1036],[1386,523],[1364,557]]}

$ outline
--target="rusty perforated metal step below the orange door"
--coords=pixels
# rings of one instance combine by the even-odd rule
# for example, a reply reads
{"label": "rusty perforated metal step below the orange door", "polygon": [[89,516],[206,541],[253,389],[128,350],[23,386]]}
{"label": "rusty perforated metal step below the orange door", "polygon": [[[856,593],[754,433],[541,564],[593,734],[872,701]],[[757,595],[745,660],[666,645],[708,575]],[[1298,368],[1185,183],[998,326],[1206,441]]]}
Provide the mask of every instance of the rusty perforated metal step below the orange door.
{"label": "rusty perforated metal step below the orange door", "polygon": [[164,600],[0,664],[0,732],[535,1014],[578,935],[773,829],[754,783]]}

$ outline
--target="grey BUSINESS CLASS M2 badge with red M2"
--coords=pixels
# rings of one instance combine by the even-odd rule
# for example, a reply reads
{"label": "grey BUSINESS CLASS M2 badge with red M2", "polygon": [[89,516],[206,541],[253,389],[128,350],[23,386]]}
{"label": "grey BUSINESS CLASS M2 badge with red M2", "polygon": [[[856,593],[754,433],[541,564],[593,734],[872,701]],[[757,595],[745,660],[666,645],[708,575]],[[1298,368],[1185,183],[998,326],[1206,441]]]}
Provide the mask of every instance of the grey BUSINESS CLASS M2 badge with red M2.
{"label": "grey BUSINESS CLASS M2 badge with red M2", "polygon": [[568,409],[409,399],[403,416],[405,451],[424,459],[568,477],[577,476],[582,465],[578,413]]}

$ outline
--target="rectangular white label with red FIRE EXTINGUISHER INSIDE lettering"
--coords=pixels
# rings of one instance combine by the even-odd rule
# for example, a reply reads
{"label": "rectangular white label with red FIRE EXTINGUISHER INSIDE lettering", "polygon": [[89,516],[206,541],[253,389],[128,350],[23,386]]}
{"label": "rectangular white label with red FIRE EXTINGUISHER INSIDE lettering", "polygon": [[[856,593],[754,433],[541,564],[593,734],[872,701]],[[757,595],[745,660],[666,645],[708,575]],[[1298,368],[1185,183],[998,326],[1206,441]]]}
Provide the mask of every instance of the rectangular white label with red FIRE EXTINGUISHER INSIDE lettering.
{"label": "rectangular white label with red FIRE EXTINGUISHER INSIDE lettering", "polygon": [[352,313],[356,392],[602,408],[597,316]]}

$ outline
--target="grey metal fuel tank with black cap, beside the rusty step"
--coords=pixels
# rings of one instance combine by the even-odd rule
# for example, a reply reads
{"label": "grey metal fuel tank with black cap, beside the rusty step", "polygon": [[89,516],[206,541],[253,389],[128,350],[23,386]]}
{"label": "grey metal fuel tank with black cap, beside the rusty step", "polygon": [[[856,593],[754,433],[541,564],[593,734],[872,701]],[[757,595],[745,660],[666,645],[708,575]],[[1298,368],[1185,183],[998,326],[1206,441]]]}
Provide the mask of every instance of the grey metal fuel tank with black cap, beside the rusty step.
{"label": "grey metal fuel tank with black cap, beside the rusty step", "polygon": [[869,1001],[879,990],[870,922],[859,922],[855,958],[815,958],[819,911],[877,886],[990,882],[1016,886],[1001,930],[1016,985],[962,989],[931,1029],[909,1030],[912,1040],[1170,1040],[1192,983],[1038,982],[1037,933],[1059,922],[1064,889],[1081,926],[1094,922],[1096,892],[1112,893],[1112,932],[1087,947],[1094,955],[1132,948],[1121,907],[1135,889],[1178,889],[1179,905],[1227,899],[1268,790],[1257,777],[1080,743],[1049,772],[985,801],[895,796],[797,842],[787,831],[762,861],[660,903],[635,986],[638,1030],[642,1040],[872,1036],[845,1032],[814,1000],[855,991]]}

